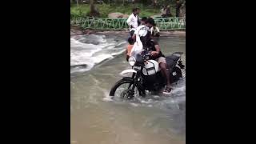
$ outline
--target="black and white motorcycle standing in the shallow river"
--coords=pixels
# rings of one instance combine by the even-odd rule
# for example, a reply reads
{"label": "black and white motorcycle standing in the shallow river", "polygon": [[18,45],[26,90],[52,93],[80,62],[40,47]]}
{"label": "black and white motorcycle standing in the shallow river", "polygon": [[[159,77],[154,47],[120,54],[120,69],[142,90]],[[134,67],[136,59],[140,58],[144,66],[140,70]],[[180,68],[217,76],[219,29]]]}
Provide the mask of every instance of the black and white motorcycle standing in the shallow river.
{"label": "black and white motorcycle standing in the shallow river", "polygon": [[[170,82],[178,82],[182,78],[182,69],[185,66],[182,64],[182,52],[175,52],[170,56],[166,56],[167,69],[170,73]],[[124,77],[114,84],[110,90],[110,96],[114,98],[115,95],[124,99],[134,98],[136,92],[142,97],[146,96],[146,90],[151,92],[158,92],[166,86],[166,78],[162,76],[161,70],[158,67],[158,62],[152,60],[150,51],[144,50],[142,54],[131,56],[128,60],[131,70],[123,70],[121,74],[132,73],[131,77]],[[119,87],[122,92],[118,94]]]}

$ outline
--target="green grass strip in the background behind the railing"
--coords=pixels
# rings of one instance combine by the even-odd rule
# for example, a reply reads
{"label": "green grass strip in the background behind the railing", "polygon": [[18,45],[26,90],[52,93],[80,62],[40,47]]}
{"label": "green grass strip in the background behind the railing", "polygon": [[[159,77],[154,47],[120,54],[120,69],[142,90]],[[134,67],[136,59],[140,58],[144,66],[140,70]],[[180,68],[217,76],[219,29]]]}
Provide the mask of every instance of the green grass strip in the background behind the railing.
{"label": "green grass strip in the background behind the railing", "polygon": [[[101,18],[107,18],[108,14],[114,13],[114,12],[120,12],[122,14],[131,14],[131,10],[134,7],[139,7],[141,9],[141,14],[140,17],[150,17],[152,15],[160,14],[160,8],[155,8],[153,9],[152,7],[149,6],[143,6],[142,4],[135,4],[135,5],[128,5],[126,4],[125,6],[110,6],[108,4],[102,4],[102,5],[96,5],[98,8],[98,11],[100,13]],[[171,6],[173,7],[173,6]],[[174,8],[171,8],[172,14],[174,13]],[[71,5],[70,6],[70,14],[71,15],[76,15],[76,16],[83,16],[86,17],[86,15],[90,12],[90,5],[89,4],[83,4],[83,5]]]}

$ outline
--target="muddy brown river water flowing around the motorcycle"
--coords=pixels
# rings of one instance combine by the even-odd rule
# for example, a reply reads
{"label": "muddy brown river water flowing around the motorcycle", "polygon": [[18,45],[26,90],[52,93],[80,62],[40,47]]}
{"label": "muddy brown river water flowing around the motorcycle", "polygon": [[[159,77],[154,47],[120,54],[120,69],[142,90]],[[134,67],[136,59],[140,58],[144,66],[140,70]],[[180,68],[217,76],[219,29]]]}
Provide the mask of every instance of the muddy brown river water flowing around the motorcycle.
{"label": "muddy brown river water flowing around the motorcycle", "polygon": [[[122,78],[122,70],[130,68],[123,53],[126,38],[123,34],[70,38],[70,143],[185,144],[186,78],[174,84],[167,97],[148,94],[137,102],[111,100],[111,86]],[[184,52],[186,64],[185,37],[158,42],[163,54]]]}

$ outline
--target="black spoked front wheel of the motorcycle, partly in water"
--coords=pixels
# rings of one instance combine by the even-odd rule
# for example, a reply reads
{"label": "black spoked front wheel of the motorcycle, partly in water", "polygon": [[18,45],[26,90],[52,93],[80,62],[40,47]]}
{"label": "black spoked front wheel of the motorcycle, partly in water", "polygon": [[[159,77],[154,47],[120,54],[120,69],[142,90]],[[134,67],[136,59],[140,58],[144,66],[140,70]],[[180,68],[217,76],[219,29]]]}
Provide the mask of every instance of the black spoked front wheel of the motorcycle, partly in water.
{"label": "black spoked front wheel of the motorcycle, partly in water", "polygon": [[110,90],[110,96],[113,97],[113,99],[124,99],[124,100],[130,100],[134,97],[137,97],[139,95],[138,88],[135,87],[134,90],[131,90],[134,83],[130,80],[120,80],[116,82],[114,87]]}

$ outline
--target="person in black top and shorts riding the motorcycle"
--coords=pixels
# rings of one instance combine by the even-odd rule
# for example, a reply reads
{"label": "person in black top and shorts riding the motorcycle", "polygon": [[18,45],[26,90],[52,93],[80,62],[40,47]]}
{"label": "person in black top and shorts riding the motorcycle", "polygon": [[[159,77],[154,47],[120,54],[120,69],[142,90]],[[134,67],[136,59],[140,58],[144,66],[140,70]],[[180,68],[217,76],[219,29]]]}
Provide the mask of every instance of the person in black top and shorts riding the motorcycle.
{"label": "person in black top and shorts riding the motorcycle", "polygon": [[[170,73],[166,69],[166,58],[160,50],[158,42],[154,41],[151,38],[150,28],[154,26],[154,19],[148,18],[146,24],[139,30],[136,30],[134,34],[139,36],[140,41],[142,42],[143,49],[149,48],[151,56],[150,59],[154,59],[159,63],[163,76],[166,78],[166,90],[163,91],[164,94],[170,94]],[[135,36],[136,38],[136,36]]]}

